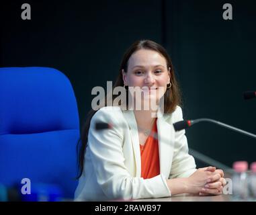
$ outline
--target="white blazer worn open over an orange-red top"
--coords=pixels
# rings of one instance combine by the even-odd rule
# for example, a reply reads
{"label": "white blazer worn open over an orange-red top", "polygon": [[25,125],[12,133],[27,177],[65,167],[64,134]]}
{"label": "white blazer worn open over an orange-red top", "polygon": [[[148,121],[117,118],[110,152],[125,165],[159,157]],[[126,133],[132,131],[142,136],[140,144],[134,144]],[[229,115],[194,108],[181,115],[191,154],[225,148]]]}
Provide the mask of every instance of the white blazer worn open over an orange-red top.
{"label": "white blazer worn open over an orange-red top", "polygon": [[[172,114],[157,115],[160,175],[140,176],[140,146],[132,110],[102,107],[91,119],[85,165],[75,191],[75,201],[130,200],[171,196],[166,179],[189,177],[196,171],[188,154],[185,131],[175,132],[173,123],[183,120],[181,107]],[[95,122],[113,124],[110,130],[95,130]]]}

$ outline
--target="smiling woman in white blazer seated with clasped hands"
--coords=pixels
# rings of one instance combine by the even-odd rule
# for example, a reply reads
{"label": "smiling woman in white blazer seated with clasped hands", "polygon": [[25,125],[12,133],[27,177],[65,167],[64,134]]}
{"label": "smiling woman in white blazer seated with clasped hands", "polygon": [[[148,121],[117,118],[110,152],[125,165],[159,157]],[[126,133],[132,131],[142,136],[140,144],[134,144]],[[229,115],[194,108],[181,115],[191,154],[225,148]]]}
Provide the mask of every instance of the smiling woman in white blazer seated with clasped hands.
{"label": "smiling woman in white blazer seated with clasped hands", "polygon": [[[136,108],[117,105],[91,112],[81,138],[75,200],[222,193],[223,171],[196,169],[185,131],[173,129],[172,124],[183,119],[179,87],[166,50],[151,40],[132,44],[124,54],[114,88],[118,86],[125,87],[127,95],[132,87],[140,89],[140,96],[132,94],[130,99]],[[149,102],[146,109],[147,101],[156,101],[158,108],[151,108],[154,102]],[[95,130],[96,122],[112,124],[112,129]]]}

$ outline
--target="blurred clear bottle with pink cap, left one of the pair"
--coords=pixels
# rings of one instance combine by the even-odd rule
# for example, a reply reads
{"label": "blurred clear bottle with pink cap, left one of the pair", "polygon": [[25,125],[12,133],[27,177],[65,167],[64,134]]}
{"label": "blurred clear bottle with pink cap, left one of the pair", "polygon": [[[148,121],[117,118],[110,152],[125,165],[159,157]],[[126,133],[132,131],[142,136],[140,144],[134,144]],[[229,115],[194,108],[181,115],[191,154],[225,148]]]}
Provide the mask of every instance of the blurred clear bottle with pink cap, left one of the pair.
{"label": "blurred clear bottle with pink cap, left one of the pair", "polygon": [[233,163],[234,173],[232,175],[232,198],[234,201],[248,200],[248,163],[247,161],[236,161]]}

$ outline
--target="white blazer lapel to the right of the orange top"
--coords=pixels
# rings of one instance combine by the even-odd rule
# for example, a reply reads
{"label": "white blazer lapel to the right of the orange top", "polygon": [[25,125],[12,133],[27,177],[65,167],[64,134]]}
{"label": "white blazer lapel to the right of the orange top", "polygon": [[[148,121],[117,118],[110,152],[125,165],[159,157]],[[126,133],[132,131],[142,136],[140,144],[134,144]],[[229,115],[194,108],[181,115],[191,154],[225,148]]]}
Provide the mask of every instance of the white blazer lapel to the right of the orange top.
{"label": "white blazer lapel to the right of the orange top", "polygon": [[175,132],[173,126],[165,118],[165,116],[158,114],[157,134],[159,138],[160,173],[168,179],[173,160]]}

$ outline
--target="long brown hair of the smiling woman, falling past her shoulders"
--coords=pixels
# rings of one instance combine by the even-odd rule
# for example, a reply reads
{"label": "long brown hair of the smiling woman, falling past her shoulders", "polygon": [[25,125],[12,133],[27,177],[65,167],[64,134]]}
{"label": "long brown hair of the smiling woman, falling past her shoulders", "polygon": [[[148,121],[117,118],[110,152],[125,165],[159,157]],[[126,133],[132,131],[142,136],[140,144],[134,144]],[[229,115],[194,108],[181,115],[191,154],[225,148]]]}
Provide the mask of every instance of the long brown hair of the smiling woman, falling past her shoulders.
{"label": "long brown hair of the smiling woman, falling past her shoulders", "polygon": [[[124,69],[124,73],[127,73],[128,69],[128,60],[130,59],[130,56],[132,54],[140,49],[146,49],[146,50],[154,50],[156,52],[159,52],[162,56],[165,57],[165,60],[167,61],[167,68],[170,68],[170,73],[171,73],[171,89],[167,89],[164,95],[164,113],[171,114],[177,105],[181,105],[181,93],[179,91],[179,86],[178,83],[175,79],[175,73],[173,70],[173,64],[171,62],[171,58],[169,57],[169,54],[167,54],[167,51],[163,46],[157,44],[156,42],[153,42],[151,40],[139,40],[134,42],[128,50],[126,50],[124,57],[122,58],[122,62],[120,64],[120,69],[119,69],[119,75],[118,78],[116,79],[116,83],[113,86],[113,89],[115,87],[124,86],[124,81],[122,78],[122,69]],[[118,97],[118,95],[112,95],[112,101]],[[105,97],[105,100],[107,98]],[[107,103],[105,102],[105,105]],[[77,179],[81,177],[83,173],[83,168],[84,168],[84,160],[85,160],[85,152],[86,152],[86,147],[87,147],[87,140],[88,140],[88,132],[89,132],[89,127],[91,123],[91,118],[93,118],[93,115],[97,111],[91,110],[89,114],[87,115],[87,120],[85,122],[85,125],[83,127],[83,132],[81,134],[81,140],[79,140],[77,144],[77,154],[78,154],[78,163],[79,163],[79,173],[77,176]]]}

